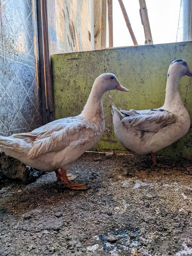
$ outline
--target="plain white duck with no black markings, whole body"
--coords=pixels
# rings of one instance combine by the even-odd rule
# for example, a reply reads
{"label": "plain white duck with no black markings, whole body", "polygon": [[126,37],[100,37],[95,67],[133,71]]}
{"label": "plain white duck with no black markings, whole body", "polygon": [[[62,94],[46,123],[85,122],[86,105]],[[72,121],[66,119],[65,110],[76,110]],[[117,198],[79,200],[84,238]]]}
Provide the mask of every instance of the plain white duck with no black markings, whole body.
{"label": "plain white duck with no black markings, whole body", "polygon": [[56,172],[71,189],[86,189],[68,179],[66,171],[79,156],[100,141],[105,130],[102,96],[110,90],[128,92],[111,73],[96,78],[83,111],[45,124],[32,132],[0,136],[2,151],[24,164],[45,172]]}

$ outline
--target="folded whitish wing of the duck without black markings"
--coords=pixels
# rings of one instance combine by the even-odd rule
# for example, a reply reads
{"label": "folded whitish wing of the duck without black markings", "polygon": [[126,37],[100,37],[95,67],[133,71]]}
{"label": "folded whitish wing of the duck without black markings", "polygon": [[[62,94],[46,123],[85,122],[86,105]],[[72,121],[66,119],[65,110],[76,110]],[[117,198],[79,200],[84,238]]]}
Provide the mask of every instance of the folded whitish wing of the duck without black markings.
{"label": "folded whitish wing of the duck without black markings", "polygon": [[36,158],[49,152],[56,152],[67,147],[71,142],[82,140],[86,129],[92,124],[82,116],[67,117],[45,124],[32,132],[14,134],[14,137],[31,142],[28,158]]}

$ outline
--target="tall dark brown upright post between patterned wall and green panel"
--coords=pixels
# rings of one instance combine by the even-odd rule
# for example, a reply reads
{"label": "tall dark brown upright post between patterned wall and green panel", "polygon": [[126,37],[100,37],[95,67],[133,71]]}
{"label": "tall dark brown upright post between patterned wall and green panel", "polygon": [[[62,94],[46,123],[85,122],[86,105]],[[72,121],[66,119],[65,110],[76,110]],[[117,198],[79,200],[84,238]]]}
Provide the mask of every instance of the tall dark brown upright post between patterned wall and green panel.
{"label": "tall dark brown upright post between patterned wall and green panel", "polygon": [[39,71],[43,124],[54,120],[47,0],[37,1]]}

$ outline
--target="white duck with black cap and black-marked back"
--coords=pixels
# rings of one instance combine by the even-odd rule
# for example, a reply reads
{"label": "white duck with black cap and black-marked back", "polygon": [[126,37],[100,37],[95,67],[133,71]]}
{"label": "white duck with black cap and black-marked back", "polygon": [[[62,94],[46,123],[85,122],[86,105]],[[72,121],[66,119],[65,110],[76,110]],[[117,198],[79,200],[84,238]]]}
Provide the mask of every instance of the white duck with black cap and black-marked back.
{"label": "white duck with black cap and black-marked back", "polygon": [[156,163],[155,153],[179,140],[190,127],[190,117],[178,91],[179,80],[184,75],[192,76],[187,62],[173,61],[167,74],[165,102],[160,108],[119,111],[112,106],[117,139],[135,155],[150,154],[152,166],[160,166]]}

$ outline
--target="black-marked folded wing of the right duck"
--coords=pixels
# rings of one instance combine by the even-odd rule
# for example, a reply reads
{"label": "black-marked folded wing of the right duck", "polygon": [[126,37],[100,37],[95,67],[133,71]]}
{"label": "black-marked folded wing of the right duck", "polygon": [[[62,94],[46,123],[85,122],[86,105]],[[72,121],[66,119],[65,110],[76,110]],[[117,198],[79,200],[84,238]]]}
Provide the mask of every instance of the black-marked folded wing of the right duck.
{"label": "black-marked folded wing of the right duck", "polygon": [[138,110],[135,111],[136,113],[134,111],[133,109],[129,111],[120,110],[122,114],[126,115],[121,121],[125,126],[131,125],[134,129],[140,131],[158,132],[177,121],[177,116],[161,108]]}

